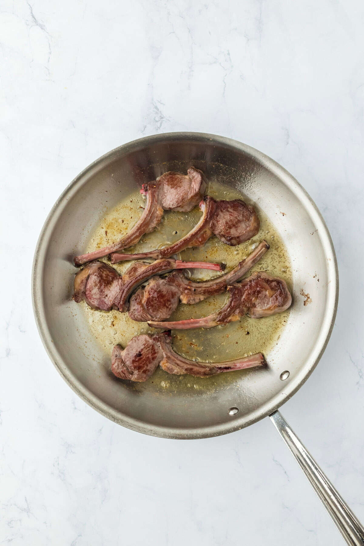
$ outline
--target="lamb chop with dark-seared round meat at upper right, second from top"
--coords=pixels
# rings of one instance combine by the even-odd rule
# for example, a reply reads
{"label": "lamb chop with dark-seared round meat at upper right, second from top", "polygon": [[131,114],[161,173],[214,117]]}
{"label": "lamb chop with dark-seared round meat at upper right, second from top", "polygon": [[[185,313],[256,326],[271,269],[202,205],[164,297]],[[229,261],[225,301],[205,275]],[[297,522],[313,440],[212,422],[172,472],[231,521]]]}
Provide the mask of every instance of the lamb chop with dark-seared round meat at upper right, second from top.
{"label": "lamb chop with dark-seared round meat at upper right, second from top", "polygon": [[232,201],[216,201],[205,197],[200,203],[202,216],[195,227],[182,239],[164,248],[141,252],[138,254],[111,254],[111,263],[123,260],[139,260],[144,258],[168,258],[182,252],[186,248],[203,246],[212,235],[228,245],[240,245],[259,232],[260,222],[253,206],[247,205],[241,199]]}

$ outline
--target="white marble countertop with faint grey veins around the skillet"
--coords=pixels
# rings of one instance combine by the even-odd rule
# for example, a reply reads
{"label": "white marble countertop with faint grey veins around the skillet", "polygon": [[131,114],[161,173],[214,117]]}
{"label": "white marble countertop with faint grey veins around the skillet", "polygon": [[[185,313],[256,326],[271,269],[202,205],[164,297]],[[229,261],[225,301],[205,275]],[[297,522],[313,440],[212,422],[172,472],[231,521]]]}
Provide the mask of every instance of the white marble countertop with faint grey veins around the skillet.
{"label": "white marble countertop with faint grey veins around the skillet", "polygon": [[364,520],[363,22],[359,0],[3,0],[0,544],[343,544],[269,419],[143,436],[83,403],[41,344],[31,264],[51,206],[103,153],[175,130],[267,153],[324,215],[336,324],[282,413]]}

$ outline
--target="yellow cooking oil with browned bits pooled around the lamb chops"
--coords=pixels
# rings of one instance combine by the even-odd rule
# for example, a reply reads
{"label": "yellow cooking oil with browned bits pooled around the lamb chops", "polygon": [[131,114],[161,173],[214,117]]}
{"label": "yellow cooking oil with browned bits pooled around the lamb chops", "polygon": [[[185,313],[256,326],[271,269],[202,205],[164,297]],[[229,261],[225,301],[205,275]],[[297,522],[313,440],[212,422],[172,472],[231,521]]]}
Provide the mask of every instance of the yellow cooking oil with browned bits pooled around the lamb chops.
{"label": "yellow cooking oil with browned bits pooled around the lamb chops", "polygon": [[[208,194],[216,199],[238,199],[242,198],[249,202],[237,189],[226,187],[219,182],[210,182]],[[87,247],[87,252],[104,247],[112,242],[121,239],[139,218],[141,207],[145,201],[138,191],[129,195],[112,209],[100,222],[93,233]],[[256,206],[256,205],[255,205]],[[216,237],[207,241],[202,248],[192,248],[183,251],[178,258],[185,260],[204,260],[208,262],[223,262],[226,270],[232,269],[240,260],[248,256],[255,246],[265,239],[270,244],[270,250],[254,266],[251,272],[267,271],[271,275],[283,278],[291,288],[292,274],[287,250],[281,236],[276,232],[273,225],[268,221],[264,212],[256,207],[260,218],[260,230],[253,239],[236,247],[225,245]],[[153,248],[161,248],[171,244],[184,235],[198,222],[201,212],[196,207],[193,211],[186,212],[165,212],[162,223],[142,240],[132,247],[128,252],[143,252]],[[130,262],[122,262],[114,267],[123,273],[130,265]],[[250,274],[250,272],[249,272]],[[248,275],[249,275],[248,274]],[[195,270],[192,271],[192,278],[195,280],[206,280],[218,276],[216,271]],[[196,305],[180,304],[171,320],[186,318],[197,318],[206,316],[222,307],[226,300],[226,294],[219,294]],[[156,333],[149,328],[147,323],[138,323],[129,318],[128,313],[111,311],[95,311],[82,302],[89,327],[93,335],[110,355],[114,345],[120,343],[126,346],[133,336],[144,333]],[[289,311],[276,314],[262,319],[251,319],[242,317],[240,321],[232,322],[223,327],[211,330],[174,330],[173,347],[177,353],[186,358],[197,361],[216,362],[230,360],[244,355],[262,352],[268,354],[270,349],[277,343],[279,335],[287,322]],[[242,375],[252,373],[253,370],[241,370],[231,373],[221,373],[210,378],[199,378],[193,376],[174,376],[158,369],[153,377],[146,383],[135,383],[135,389],[148,389],[155,393],[166,391],[174,393],[176,390],[186,394],[206,393],[206,390],[217,390],[226,387],[227,384],[236,381]]]}

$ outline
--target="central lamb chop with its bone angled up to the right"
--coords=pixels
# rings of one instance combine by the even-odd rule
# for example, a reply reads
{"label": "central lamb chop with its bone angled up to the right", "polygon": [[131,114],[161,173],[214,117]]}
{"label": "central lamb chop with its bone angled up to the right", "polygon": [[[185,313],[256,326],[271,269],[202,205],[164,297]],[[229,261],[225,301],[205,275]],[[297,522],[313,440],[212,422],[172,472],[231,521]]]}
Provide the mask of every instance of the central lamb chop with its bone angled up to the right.
{"label": "central lamb chop with its bone angled up to the right", "polygon": [[133,321],[164,321],[176,310],[178,302],[195,304],[209,296],[221,294],[230,284],[245,275],[267,252],[269,245],[261,241],[249,256],[229,273],[210,281],[191,281],[182,272],[173,271],[167,277],[153,277],[130,299],[129,317]]}

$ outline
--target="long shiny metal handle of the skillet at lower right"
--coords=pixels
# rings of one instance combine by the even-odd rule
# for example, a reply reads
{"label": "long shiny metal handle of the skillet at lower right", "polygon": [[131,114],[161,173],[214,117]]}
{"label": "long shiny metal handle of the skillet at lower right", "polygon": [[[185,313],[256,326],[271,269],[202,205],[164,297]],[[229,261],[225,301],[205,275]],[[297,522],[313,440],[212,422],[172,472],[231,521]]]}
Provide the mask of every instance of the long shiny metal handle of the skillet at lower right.
{"label": "long shiny metal handle of the skillet at lower right", "polygon": [[297,438],[282,414],[276,411],[270,415],[270,418],[303,472],[305,472],[306,478],[311,483],[327,512],[329,512],[345,542],[350,546],[363,546],[364,527],[351,512],[347,503],[338,494],[317,462]]}

